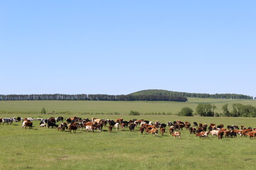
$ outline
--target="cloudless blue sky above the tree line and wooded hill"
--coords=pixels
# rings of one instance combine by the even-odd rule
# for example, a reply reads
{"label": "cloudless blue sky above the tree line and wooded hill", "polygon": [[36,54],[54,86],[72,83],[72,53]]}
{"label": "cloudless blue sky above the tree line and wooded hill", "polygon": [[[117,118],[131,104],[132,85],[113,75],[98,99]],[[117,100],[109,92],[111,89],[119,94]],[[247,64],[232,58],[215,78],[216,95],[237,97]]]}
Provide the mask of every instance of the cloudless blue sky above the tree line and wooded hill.
{"label": "cloudless blue sky above the tree line and wooded hill", "polygon": [[256,1],[0,1],[0,94],[256,96]]}

